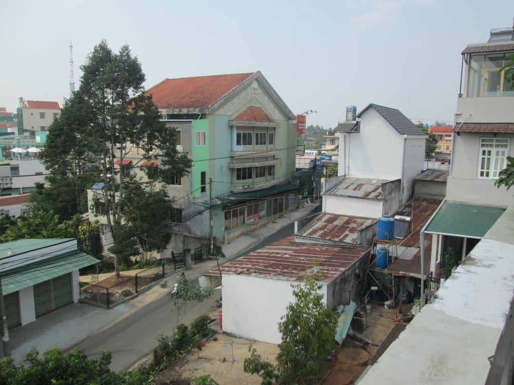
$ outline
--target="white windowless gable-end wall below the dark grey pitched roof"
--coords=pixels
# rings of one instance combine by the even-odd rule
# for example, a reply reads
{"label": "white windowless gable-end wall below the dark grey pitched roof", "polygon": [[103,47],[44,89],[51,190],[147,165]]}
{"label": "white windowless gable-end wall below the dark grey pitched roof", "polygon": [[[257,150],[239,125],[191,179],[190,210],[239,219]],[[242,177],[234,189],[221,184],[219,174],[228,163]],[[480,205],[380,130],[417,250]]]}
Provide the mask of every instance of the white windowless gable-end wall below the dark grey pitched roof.
{"label": "white windowless gable-end wall below the dark grey pitched roof", "polygon": [[[401,178],[403,137],[374,108],[370,107],[362,114],[360,132],[346,134],[346,138],[348,175]],[[339,159],[341,162],[341,157]]]}

